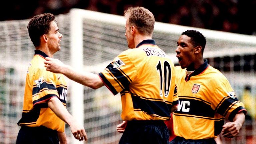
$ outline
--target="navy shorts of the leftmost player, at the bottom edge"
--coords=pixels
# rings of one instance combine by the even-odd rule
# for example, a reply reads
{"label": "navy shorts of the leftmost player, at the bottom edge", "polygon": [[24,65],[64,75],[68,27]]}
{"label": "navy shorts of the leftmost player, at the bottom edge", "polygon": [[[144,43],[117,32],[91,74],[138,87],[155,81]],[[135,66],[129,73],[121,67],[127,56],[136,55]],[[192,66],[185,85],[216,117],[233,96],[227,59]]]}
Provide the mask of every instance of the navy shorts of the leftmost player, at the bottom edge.
{"label": "navy shorts of the leftmost player, at the bottom edge", "polygon": [[59,144],[56,130],[44,126],[20,128],[16,144]]}

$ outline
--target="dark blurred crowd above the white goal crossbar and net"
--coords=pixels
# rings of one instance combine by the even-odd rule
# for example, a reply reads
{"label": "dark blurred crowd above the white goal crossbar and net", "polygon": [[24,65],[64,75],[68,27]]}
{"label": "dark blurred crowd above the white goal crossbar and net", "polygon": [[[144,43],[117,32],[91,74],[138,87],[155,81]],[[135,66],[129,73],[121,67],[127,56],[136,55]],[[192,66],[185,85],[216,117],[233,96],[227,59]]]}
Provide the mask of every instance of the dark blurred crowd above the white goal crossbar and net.
{"label": "dark blurred crowd above the white goal crossbar and net", "polygon": [[158,22],[256,35],[256,0],[8,0],[0,20],[64,14],[71,8],[123,15],[131,6],[148,8]]}

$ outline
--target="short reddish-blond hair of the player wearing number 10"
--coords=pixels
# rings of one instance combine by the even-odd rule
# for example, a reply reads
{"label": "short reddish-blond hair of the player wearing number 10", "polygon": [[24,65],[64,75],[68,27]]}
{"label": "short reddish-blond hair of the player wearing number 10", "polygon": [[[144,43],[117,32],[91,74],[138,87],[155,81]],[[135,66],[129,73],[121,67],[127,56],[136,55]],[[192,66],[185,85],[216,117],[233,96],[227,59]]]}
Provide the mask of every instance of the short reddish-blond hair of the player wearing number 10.
{"label": "short reddish-blond hair of the player wearing number 10", "polygon": [[152,35],[155,18],[148,9],[144,7],[130,7],[124,11],[124,17],[129,18],[129,23],[136,26],[140,33]]}

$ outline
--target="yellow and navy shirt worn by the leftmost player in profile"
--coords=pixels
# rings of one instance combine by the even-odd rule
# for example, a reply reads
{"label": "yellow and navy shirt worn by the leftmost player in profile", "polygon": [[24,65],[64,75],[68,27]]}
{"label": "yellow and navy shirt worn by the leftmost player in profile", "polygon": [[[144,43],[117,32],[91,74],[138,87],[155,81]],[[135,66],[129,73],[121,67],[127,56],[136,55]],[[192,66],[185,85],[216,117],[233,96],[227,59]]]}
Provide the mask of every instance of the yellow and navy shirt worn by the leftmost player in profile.
{"label": "yellow and navy shirt worn by the leftmost player in profile", "polygon": [[48,100],[58,97],[64,106],[67,100],[67,85],[62,74],[46,71],[45,53],[35,50],[31,60],[25,84],[22,118],[19,126],[47,128],[64,132],[65,122],[58,118],[48,107]]}

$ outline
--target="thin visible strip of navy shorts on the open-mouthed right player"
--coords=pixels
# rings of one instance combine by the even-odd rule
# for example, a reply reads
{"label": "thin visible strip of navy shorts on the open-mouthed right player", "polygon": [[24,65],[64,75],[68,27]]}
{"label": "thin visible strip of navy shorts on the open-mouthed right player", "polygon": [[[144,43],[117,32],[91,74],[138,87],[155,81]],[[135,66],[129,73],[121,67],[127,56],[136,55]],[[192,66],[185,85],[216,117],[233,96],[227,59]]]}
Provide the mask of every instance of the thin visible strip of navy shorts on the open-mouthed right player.
{"label": "thin visible strip of navy shorts on the open-mouthed right player", "polygon": [[210,139],[200,139],[200,140],[191,140],[184,139],[183,137],[176,136],[169,144],[216,144],[213,138]]}

